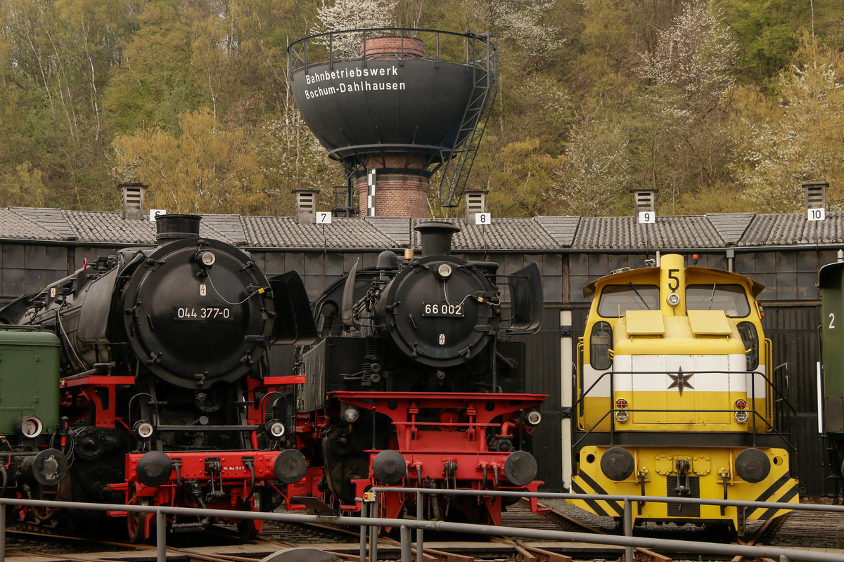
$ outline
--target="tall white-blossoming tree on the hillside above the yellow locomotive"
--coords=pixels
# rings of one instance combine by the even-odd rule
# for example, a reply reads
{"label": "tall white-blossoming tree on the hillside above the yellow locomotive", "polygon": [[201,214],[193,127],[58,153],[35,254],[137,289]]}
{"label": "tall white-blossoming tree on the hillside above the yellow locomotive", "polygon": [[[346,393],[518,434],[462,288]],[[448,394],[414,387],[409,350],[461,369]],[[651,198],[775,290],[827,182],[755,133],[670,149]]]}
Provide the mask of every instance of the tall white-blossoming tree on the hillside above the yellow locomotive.
{"label": "tall white-blossoming tree on the hillside above the yellow locomotive", "polygon": [[636,73],[646,83],[632,101],[630,162],[634,185],[659,192],[667,210],[728,177],[728,113],[737,45],[711,1],[693,1],[657,34]]}

